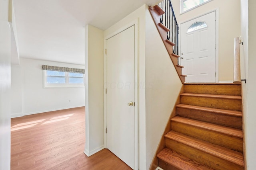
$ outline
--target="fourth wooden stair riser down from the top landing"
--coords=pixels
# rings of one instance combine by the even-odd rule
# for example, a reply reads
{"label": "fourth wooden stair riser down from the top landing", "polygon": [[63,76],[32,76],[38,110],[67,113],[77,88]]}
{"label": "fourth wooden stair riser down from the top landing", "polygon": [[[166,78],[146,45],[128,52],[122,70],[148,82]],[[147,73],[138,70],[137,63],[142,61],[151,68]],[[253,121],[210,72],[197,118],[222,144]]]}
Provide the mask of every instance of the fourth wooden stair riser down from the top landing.
{"label": "fourth wooden stair riser down from the top landing", "polygon": [[243,140],[239,137],[233,137],[223,133],[218,133],[176,121],[172,121],[172,131],[176,131],[196,139],[236,150],[238,152],[243,152]]}

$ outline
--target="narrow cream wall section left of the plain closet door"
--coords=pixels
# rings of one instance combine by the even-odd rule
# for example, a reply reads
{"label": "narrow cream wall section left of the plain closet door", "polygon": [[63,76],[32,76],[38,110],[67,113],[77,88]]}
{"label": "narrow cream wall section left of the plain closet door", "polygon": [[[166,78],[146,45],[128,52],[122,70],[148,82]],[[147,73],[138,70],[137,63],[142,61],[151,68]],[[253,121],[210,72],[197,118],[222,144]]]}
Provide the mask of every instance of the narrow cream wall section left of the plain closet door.
{"label": "narrow cream wall section left of the plain closet door", "polygon": [[85,27],[85,108],[84,153],[90,156],[104,148],[103,31]]}

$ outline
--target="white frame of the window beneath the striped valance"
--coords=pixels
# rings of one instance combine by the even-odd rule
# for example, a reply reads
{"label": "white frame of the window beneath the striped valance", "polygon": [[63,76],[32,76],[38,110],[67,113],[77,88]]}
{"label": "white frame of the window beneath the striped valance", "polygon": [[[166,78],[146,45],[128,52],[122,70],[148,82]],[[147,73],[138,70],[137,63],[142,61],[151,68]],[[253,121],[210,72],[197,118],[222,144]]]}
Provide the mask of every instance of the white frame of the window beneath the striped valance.
{"label": "white frame of the window beneath the striped valance", "polygon": [[[65,79],[66,79],[66,83],[50,83],[48,84],[46,82],[47,80],[47,74],[46,74],[47,70],[43,70],[43,87],[44,88],[81,88],[84,87],[85,83],[68,83],[69,82],[69,76],[68,73],[69,72],[65,72]],[[82,73],[81,73],[82,74]],[[62,76],[64,77],[64,76]],[[71,76],[74,77],[74,76]],[[84,78],[84,76],[83,76]]]}

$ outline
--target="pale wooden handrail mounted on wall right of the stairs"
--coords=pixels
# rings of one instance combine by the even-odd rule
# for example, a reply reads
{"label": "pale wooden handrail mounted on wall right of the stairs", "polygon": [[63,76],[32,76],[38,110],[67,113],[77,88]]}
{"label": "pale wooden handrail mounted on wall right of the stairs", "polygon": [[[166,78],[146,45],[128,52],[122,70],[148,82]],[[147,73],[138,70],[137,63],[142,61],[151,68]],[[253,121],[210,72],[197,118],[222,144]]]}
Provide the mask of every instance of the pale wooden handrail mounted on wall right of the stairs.
{"label": "pale wooden handrail mounted on wall right of the stairs", "polygon": [[233,75],[233,83],[234,84],[240,84],[241,83],[239,37],[236,37],[234,39],[234,75]]}

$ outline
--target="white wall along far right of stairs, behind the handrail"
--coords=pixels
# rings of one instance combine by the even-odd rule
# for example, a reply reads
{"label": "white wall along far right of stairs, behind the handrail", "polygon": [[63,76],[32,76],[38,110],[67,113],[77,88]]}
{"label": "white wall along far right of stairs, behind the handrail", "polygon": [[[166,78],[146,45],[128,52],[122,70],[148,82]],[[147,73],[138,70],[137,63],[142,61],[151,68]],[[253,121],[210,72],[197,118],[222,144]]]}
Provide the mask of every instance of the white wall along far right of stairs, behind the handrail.
{"label": "white wall along far right of stairs, behind the handrail", "polygon": [[246,72],[246,84],[243,83],[243,119],[246,168],[254,170],[256,167],[256,115],[255,115],[255,72],[256,72],[256,2],[255,0],[241,0],[241,31],[244,45],[241,50],[244,53],[244,69]]}

